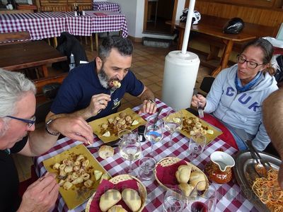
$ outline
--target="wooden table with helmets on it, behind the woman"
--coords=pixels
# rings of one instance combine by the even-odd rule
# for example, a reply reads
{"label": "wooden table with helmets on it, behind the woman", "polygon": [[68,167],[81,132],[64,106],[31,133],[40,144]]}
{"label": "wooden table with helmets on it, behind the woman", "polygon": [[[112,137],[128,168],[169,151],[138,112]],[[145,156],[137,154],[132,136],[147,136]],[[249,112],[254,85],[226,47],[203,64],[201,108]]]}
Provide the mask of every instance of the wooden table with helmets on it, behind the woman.
{"label": "wooden table with helmets on it, behind the woman", "polygon": [[[212,71],[212,76],[216,76],[217,73],[227,67],[234,42],[246,42],[253,40],[256,37],[270,36],[273,33],[272,27],[253,23],[245,23],[245,28],[243,28],[242,32],[238,35],[222,33],[222,28],[228,20],[229,19],[227,18],[202,15],[200,22],[197,25],[192,25],[191,27],[192,31],[210,35],[212,37],[218,37],[222,40],[222,42],[224,42],[224,52],[221,57],[220,64],[214,71]],[[166,23],[172,24],[171,21],[167,21]],[[175,27],[180,31],[178,49],[182,49],[185,23],[176,20],[173,25],[175,25]]]}

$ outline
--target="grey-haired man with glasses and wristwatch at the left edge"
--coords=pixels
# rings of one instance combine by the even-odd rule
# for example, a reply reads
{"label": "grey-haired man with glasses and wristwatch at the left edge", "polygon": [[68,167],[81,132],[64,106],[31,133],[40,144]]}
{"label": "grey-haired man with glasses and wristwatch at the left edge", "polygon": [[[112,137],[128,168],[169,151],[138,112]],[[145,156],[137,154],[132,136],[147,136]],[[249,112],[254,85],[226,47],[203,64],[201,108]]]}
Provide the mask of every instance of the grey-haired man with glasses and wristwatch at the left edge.
{"label": "grey-haired man with glasses and wristwatch at the left edge", "polygon": [[48,151],[59,134],[93,143],[91,127],[82,119],[50,119],[35,130],[35,85],[22,73],[0,69],[0,211],[50,211],[59,185],[47,173],[18,196],[18,173],[12,154],[35,156]]}

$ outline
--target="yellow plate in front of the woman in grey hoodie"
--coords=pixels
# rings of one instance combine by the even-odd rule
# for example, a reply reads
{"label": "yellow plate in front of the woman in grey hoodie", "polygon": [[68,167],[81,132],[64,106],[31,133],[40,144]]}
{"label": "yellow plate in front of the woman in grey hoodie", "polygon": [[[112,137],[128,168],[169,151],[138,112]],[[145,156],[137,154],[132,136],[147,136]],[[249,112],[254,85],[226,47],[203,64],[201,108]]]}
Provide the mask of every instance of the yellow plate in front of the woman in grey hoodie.
{"label": "yellow plate in front of the woman in grey hoodie", "polygon": [[[183,113],[183,117],[185,118],[197,118],[194,114],[188,112],[187,110],[181,110]],[[216,139],[218,136],[220,136],[222,134],[222,131],[219,131],[218,129],[214,128],[212,125],[208,124],[207,122],[204,122],[204,120],[200,119],[200,122],[202,123],[202,126],[207,126],[208,129],[212,129],[214,131],[214,134],[210,135],[210,134],[206,134],[204,135],[207,138],[207,144],[210,143],[211,141],[213,141],[214,139]],[[190,138],[190,132],[185,131],[184,128],[184,124],[183,124],[183,128],[180,130],[180,133],[183,134],[184,136],[186,136],[187,138]]]}

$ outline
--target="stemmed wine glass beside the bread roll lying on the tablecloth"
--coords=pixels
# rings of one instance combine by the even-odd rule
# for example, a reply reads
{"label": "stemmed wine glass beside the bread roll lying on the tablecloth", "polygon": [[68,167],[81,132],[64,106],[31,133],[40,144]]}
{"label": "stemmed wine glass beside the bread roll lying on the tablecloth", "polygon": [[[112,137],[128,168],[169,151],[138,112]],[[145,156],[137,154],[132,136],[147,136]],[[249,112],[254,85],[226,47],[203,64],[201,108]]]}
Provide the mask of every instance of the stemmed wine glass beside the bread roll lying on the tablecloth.
{"label": "stemmed wine glass beside the bread roll lying on the tablecloth", "polygon": [[132,175],[132,161],[139,158],[141,155],[141,143],[139,141],[139,136],[130,130],[124,129],[119,132],[119,149],[122,158],[129,160],[129,170],[127,173]]}

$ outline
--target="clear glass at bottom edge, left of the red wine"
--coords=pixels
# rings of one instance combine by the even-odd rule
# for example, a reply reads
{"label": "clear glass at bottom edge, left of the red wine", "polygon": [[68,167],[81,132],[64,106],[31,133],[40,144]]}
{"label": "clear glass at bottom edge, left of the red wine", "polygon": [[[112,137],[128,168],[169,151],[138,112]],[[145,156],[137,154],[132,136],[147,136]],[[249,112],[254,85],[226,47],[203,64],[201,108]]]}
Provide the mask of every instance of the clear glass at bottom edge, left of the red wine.
{"label": "clear glass at bottom edge, left of the red wine", "polygon": [[186,199],[180,189],[169,189],[163,201],[163,210],[166,212],[181,212],[185,208]]}

